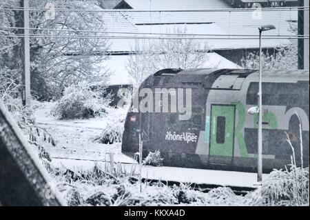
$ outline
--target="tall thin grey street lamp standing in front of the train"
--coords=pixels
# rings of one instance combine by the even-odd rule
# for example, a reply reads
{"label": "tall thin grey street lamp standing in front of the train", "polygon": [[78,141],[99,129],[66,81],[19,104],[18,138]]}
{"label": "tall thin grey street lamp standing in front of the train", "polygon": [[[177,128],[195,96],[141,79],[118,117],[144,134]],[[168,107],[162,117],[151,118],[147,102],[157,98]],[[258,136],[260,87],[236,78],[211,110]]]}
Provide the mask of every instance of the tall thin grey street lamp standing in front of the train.
{"label": "tall thin grey street lamp standing in front of the train", "polygon": [[258,152],[257,152],[257,181],[262,181],[262,32],[267,30],[276,29],[273,25],[261,26],[258,28],[260,31],[260,70],[258,81]]}

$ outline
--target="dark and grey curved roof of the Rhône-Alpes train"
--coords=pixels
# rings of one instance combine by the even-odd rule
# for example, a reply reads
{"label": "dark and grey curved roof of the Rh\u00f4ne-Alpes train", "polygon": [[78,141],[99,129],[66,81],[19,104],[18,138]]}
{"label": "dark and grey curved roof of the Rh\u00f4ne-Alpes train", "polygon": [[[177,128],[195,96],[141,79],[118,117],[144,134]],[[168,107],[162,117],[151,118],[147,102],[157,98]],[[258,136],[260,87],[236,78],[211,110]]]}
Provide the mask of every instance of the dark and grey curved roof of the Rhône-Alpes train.
{"label": "dark and grey curved roof of the Rh\u00f4ne-Alpes train", "polygon": [[[263,81],[309,81],[309,70],[264,70]],[[242,81],[258,81],[258,70],[248,69],[164,69],[149,76],[142,87],[239,89]],[[214,83],[219,79],[218,83]],[[238,79],[238,80],[237,80]],[[234,82],[240,85],[232,85]],[[238,87],[238,88],[237,88]]]}

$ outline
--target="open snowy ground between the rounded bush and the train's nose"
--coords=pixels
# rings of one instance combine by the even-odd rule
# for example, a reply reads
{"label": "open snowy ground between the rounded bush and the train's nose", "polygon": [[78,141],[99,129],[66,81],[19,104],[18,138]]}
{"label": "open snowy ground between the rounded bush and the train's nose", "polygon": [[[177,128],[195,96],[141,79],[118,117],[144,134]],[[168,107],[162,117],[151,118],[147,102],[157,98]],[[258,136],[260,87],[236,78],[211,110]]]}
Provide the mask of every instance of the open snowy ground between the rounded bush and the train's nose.
{"label": "open snowy ground between the rounded bush and the train's nose", "polygon": [[101,134],[107,119],[57,120],[50,114],[53,105],[54,103],[41,103],[34,112],[39,127],[51,134],[56,144],[49,145],[46,149],[52,158],[103,161],[107,153],[113,152],[116,159],[127,161],[127,157],[121,154],[121,143],[103,144],[92,141]]}

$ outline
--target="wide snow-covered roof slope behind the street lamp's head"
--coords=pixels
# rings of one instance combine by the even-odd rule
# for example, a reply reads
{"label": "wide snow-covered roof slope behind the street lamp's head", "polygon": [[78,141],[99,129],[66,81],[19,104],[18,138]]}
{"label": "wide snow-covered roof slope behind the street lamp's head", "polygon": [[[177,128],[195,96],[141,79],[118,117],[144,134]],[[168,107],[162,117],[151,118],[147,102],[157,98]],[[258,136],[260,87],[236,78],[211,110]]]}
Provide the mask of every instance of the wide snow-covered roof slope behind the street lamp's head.
{"label": "wide snow-covered roof slope behind the street lamp's head", "polygon": [[[231,35],[256,36],[256,39],[234,39],[234,37],[231,37],[231,39],[206,40],[209,45],[213,46],[213,50],[258,48],[258,27],[265,24],[276,26],[276,30],[264,32],[265,37],[268,35],[292,35],[290,31],[291,24],[298,21],[298,11],[293,9],[255,12],[124,12],[124,14],[127,19],[136,24],[138,30],[145,32],[158,32],[159,30],[163,33],[170,24],[180,26],[183,23],[183,26],[187,26],[187,29],[189,29],[189,25],[193,26],[191,28],[192,34],[210,34],[210,32],[211,34],[218,34],[218,32],[223,32]],[[207,26],[207,24],[210,25],[211,23],[212,28],[206,28],[211,27]],[[215,28],[216,26],[218,28]],[[275,48],[287,43],[289,43],[287,39],[265,39],[262,46]]]}

